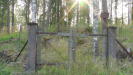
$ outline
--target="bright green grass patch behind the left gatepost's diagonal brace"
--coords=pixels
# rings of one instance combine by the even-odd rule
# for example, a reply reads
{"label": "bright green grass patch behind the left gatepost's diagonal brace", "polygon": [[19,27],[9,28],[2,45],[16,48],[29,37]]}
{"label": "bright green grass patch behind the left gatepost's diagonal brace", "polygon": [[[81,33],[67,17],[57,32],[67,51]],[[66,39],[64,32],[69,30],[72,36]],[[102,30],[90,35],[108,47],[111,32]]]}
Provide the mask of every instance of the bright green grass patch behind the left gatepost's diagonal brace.
{"label": "bright green grass patch behind the left gatepost's diagonal brace", "polygon": [[0,51],[1,50],[20,50],[25,43],[27,36],[25,32],[0,34]]}

